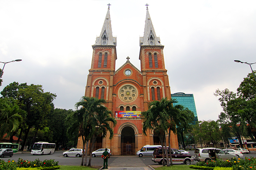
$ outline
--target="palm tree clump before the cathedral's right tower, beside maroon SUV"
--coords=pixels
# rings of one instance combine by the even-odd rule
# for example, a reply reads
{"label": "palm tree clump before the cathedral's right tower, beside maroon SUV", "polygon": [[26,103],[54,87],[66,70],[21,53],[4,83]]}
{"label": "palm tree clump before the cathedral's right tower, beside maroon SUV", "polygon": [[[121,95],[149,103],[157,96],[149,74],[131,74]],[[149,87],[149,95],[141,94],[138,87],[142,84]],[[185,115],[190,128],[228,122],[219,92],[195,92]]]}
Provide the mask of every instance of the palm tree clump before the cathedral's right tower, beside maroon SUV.
{"label": "palm tree clump before the cathedral's right tower, beside maroon SUV", "polygon": [[[167,146],[165,140],[165,133],[169,131],[173,131],[176,133],[176,123],[177,120],[180,119],[178,107],[173,107],[172,103],[176,103],[176,100],[167,98],[163,98],[162,100],[152,101],[148,105],[148,110],[141,113],[142,118],[144,118],[142,132],[144,135],[147,135],[147,129],[153,130],[154,134],[158,135],[161,145],[162,151],[164,153],[164,147]],[[183,107],[182,107],[183,108]],[[170,134],[169,134],[170,136]],[[170,146],[170,145],[169,145]],[[167,147],[165,147],[165,155],[168,158]],[[163,154],[164,160],[164,154]],[[170,160],[172,165],[172,156],[170,154]],[[163,161],[163,166],[165,166],[165,162]],[[169,161],[167,161],[167,166],[170,166]]]}

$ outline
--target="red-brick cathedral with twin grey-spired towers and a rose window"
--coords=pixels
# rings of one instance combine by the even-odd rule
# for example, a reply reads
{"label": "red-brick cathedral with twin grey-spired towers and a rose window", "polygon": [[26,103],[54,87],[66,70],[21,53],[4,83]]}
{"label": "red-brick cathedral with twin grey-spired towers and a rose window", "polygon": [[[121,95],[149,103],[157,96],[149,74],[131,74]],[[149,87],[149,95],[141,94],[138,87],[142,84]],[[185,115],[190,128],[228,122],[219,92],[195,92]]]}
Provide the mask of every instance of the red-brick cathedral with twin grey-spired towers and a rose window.
{"label": "red-brick cathedral with twin grey-spired towers and a rose window", "polygon": [[[164,66],[164,46],[156,37],[148,6],[144,36],[140,37],[140,70],[129,61],[129,57],[116,69],[116,37],[112,36],[109,7],[100,36],[96,37],[92,49],[85,96],[105,99],[105,106],[117,121],[113,127],[113,139],[109,140],[109,134],[106,138],[98,137],[95,150],[110,148],[112,155],[135,155],[144,145],[160,144],[153,131],[147,130],[147,136],[142,133],[143,119],[140,117],[141,112],[148,110],[151,101],[165,97],[171,99]],[[177,136],[173,133],[171,147],[178,148]],[[83,148],[81,137],[78,138],[77,148]]]}

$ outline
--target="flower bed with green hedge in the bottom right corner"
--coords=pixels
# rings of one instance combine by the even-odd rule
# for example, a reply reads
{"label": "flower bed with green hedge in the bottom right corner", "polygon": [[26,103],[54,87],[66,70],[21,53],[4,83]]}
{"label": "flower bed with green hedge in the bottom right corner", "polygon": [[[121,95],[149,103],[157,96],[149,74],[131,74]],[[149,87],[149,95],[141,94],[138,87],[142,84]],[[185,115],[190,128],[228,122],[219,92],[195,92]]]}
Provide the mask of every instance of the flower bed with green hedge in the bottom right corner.
{"label": "flower bed with green hedge in the bottom right corner", "polygon": [[[197,166],[197,167],[196,167]],[[195,166],[190,166],[190,168],[193,169],[206,169],[209,168],[203,168],[203,167],[232,167],[233,170],[255,170],[256,169],[256,158],[250,157],[245,159],[236,160],[236,158],[228,159],[226,161],[222,161],[220,159],[217,159],[216,161],[207,161],[207,162],[197,162]]]}

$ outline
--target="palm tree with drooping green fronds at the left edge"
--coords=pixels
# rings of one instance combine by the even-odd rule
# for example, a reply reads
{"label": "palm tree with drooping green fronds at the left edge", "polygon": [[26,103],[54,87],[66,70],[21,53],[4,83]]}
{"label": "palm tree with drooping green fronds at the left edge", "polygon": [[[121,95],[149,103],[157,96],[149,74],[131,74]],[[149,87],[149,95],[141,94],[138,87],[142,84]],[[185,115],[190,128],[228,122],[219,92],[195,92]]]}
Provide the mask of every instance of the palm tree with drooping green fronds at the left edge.
{"label": "palm tree with drooping green fronds at the left edge", "polygon": [[0,102],[0,139],[7,133],[6,137],[12,135],[19,128],[27,112],[21,110],[18,105],[1,99]]}

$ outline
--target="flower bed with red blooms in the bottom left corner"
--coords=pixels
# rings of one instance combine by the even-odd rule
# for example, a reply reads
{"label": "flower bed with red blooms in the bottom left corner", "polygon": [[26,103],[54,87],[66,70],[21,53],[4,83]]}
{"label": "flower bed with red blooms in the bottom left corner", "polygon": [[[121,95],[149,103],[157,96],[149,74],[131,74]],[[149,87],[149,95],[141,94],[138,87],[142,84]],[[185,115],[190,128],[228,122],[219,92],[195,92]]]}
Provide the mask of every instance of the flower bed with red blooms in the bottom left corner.
{"label": "flower bed with red blooms in the bottom left corner", "polygon": [[34,170],[53,170],[60,168],[60,166],[58,166],[58,163],[59,162],[54,162],[54,159],[45,159],[44,161],[36,159],[34,161],[29,161],[19,158],[17,162],[15,162],[14,160],[11,161],[10,159],[8,159],[8,161],[5,162],[4,160],[1,159],[0,168],[4,170],[22,170],[24,168],[35,168]]}

